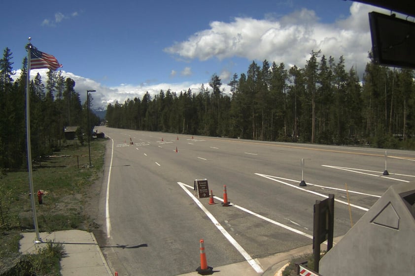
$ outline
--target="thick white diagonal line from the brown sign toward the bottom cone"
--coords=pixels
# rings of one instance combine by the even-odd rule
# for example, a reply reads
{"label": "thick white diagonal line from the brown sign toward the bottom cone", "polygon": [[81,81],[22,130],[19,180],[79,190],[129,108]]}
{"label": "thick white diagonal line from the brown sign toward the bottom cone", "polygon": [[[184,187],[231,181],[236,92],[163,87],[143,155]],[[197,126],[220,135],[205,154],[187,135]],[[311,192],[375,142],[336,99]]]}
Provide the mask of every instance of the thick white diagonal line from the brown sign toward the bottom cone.
{"label": "thick white diagonal line from the brown sign toward the bottom cone", "polygon": [[[213,224],[219,229],[219,231],[225,236],[226,239],[241,253],[241,255],[245,258],[245,260],[251,265],[251,267],[257,272],[257,273],[263,273],[264,270],[261,268],[261,265],[259,264],[258,260],[252,259],[252,257],[245,251],[245,249],[242,248],[240,244],[223,228],[223,226],[217,221],[217,219],[203,206],[203,204],[186,188],[186,186],[190,187],[187,184],[177,182],[177,184],[180,185],[180,187],[193,199],[193,201],[199,206],[200,209],[202,209],[203,212],[210,218],[210,220],[213,222]],[[193,187],[192,187],[193,188]]]}

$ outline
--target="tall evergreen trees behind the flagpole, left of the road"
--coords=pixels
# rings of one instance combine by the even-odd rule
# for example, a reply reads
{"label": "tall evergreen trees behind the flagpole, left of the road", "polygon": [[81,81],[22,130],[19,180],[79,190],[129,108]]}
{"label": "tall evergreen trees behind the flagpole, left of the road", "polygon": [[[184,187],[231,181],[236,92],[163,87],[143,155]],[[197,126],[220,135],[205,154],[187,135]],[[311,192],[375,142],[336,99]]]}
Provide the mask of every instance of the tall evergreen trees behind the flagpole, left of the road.
{"label": "tall evergreen trees behind the flagpole, left of the road", "polygon": [[[4,49],[0,60],[0,170],[27,166],[26,78],[27,57],[21,75],[13,79],[12,53]],[[65,140],[65,126],[79,126],[78,136],[90,135],[100,119],[90,111],[88,131],[86,102],[75,92],[75,81],[65,79],[61,71],[49,70],[42,80],[39,73],[30,82],[31,149],[34,159],[58,150]],[[90,103],[91,103],[91,95]],[[91,104],[90,104],[91,108]]]}

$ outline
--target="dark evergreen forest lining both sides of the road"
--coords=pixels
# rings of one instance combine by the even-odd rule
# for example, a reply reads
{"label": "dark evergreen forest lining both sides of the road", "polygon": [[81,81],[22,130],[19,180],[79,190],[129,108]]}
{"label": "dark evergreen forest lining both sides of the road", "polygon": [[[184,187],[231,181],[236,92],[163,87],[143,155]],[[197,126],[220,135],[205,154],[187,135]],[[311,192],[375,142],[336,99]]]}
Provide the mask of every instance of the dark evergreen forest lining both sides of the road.
{"label": "dark evergreen forest lining both sides of the road", "polygon": [[[369,53],[370,57],[370,53]],[[27,165],[26,78],[14,79],[12,53],[0,60],[0,169]],[[361,145],[415,149],[414,71],[367,63],[362,80],[343,56],[311,51],[303,68],[256,61],[235,73],[225,91],[217,74],[198,91],[161,90],[141,99],[109,104],[110,127],[220,136],[261,141]],[[75,82],[49,70],[30,82],[30,124],[34,159],[49,155],[65,141],[65,126],[91,135],[100,119],[92,98],[81,103]],[[89,114],[87,114],[89,110]],[[89,126],[87,119],[89,116]]]}

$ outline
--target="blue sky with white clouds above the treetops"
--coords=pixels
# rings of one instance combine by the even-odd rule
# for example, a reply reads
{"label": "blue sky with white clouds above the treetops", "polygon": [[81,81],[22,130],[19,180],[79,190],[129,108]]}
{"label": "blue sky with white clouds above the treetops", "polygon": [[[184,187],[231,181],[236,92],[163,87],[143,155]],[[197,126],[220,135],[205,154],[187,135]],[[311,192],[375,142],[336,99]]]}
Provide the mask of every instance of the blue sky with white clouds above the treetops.
{"label": "blue sky with white clouds above the treetops", "polygon": [[[92,108],[170,89],[199,92],[213,74],[231,77],[255,61],[304,67],[311,51],[346,60],[363,74],[369,61],[368,12],[350,0],[19,0],[0,17],[0,49],[17,79],[25,45],[55,56]],[[46,69],[31,70],[46,80]]]}

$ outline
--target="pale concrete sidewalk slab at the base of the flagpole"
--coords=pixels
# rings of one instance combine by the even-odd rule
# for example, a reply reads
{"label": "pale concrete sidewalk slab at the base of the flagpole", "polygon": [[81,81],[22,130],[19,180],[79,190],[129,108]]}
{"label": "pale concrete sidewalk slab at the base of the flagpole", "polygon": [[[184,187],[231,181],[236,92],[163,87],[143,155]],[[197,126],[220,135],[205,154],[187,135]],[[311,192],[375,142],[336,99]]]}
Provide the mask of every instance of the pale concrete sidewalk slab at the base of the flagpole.
{"label": "pale concrete sidewalk slab at the base of the flagpole", "polygon": [[22,233],[20,252],[34,253],[47,242],[64,245],[66,256],[61,260],[62,276],[111,276],[100,245],[93,233],[81,230],[40,233],[42,243],[35,244],[36,233]]}

